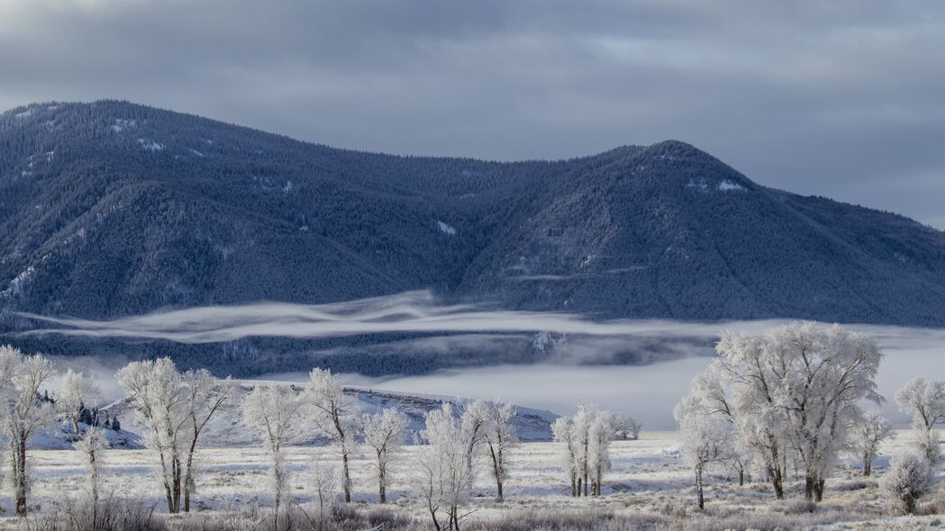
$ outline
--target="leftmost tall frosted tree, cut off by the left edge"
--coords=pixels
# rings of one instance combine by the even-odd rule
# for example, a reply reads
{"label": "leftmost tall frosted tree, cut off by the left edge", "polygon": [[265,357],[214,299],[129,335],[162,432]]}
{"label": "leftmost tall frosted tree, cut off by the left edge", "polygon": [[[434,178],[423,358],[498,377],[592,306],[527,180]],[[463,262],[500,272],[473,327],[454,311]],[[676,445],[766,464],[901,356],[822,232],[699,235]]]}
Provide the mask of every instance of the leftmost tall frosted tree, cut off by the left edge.
{"label": "leftmost tall frosted tree, cut off by the left edge", "polygon": [[55,407],[40,400],[40,390],[53,374],[52,363],[41,354],[0,347],[0,423],[9,444],[9,461],[16,514],[26,515],[29,493],[26,443],[55,419]]}

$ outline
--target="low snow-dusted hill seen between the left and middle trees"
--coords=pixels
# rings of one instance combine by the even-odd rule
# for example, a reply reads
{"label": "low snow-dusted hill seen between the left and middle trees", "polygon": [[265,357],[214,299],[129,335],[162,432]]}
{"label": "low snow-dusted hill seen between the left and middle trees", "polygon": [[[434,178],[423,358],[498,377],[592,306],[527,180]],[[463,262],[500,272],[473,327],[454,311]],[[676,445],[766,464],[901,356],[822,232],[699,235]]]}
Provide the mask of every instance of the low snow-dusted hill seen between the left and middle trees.
{"label": "low snow-dusted hill seen between the left and middle trees", "polygon": [[[251,447],[258,446],[259,440],[256,433],[247,430],[240,422],[239,405],[249,395],[254,385],[285,385],[300,392],[304,384],[293,384],[288,382],[265,382],[265,381],[234,381],[236,389],[233,392],[233,398],[226,411],[218,414],[206,431],[201,435],[200,440],[206,447]],[[386,407],[395,407],[403,411],[410,419],[409,429],[419,431],[423,429],[423,416],[427,411],[438,409],[444,402],[461,405],[470,402],[470,399],[449,398],[435,395],[417,395],[409,393],[400,393],[381,389],[372,389],[368,387],[345,387],[345,392],[352,395],[357,401],[357,405],[362,412],[369,413]],[[121,420],[122,427],[138,435],[143,433],[141,426],[135,419],[134,410],[127,399],[112,403],[105,408],[112,417]],[[519,438],[523,441],[542,441],[551,440],[551,423],[558,418],[558,415],[549,411],[542,411],[529,407],[518,407],[518,414],[513,422],[518,428]],[[300,423],[301,424],[301,423]],[[300,425],[295,434],[294,442],[301,445],[321,445],[326,441],[306,431],[305,426]]]}

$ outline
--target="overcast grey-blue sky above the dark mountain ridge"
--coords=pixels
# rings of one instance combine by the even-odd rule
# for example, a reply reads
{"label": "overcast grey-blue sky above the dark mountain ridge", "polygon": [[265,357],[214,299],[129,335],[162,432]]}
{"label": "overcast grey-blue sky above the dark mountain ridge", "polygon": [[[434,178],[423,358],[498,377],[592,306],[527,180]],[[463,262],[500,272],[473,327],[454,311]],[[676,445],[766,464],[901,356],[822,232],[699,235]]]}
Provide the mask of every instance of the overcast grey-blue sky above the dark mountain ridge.
{"label": "overcast grey-blue sky above the dark mountain ridge", "polygon": [[393,153],[679,139],[945,229],[945,2],[0,0],[0,108],[122,98]]}

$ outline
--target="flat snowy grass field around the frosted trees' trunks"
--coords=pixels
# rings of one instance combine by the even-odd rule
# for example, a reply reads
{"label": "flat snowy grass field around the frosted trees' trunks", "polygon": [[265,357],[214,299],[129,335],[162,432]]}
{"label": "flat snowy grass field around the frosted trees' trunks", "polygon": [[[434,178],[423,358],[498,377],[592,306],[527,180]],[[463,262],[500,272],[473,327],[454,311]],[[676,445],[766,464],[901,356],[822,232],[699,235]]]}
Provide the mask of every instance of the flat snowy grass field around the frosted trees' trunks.
{"label": "flat snowy grass field around the frosted trees' trunks", "polygon": [[[887,455],[900,451],[909,442],[909,435],[900,433],[899,437],[887,443],[883,456],[875,465],[876,473],[883,473]],[[832,529],[938,528],[945,522],[935,515],[911,519],[886,517],[887,507],[877,492],[877,478],[861,477],[851,462],[844,462],[838,468],[828,483],[824,503],[814,514],[808,514],[806,505],[801,503],[796,481],[789,484],[788,500],[776,503],[766,484],[753,483],[739,488],[730,477],[726,477],[725,471],[713,477],[713,485],[706,492],[707,512],[700,513],[695,508],[692,475],[681,464],[675,449],[675,434],[672,432],[644,433],[637,441],[615,441],[611,452],[613,469],[607,476],[604,496],[575,499],[568,495],[569,487],[558,465],[558,445],[544,442],[523,444],[514,452],[514,471],[507,482],[507,501],[503,504],[494,502],[490,478],[480,474],[470,504],[474,509],[472,519],[495,519],[509,512],[521,512],[524,508],[568,511],[594,507],[638,518],[641,522],[653,522],[656,528],[679,529],[713,528],[710,522],[723,522],[724,526],[731,527],[745,526],[754,522],[749,518],[760,518],[762,522],[782,519],[782,523],[799,527],[826,523]],[[411,454],[423,451],[422,447],[404,448],[403,458],[397,461],[397,479],[388,490],[393,509],[416,515],[421,529],[425,528],[425,514],[413,498],[407,479]],[[112,450],[108,455],[105,490],[111,494],[106,497],[143,500],[147,505],[157,505],[159,510],[163,510],[158,483],[151,473],[151,454],[142,450]],[[289,455],[294,473],[291,481],[294,495],[301,504],[312,502],[307,488],[310,485],[307,471],[319,457],[334,462],[334,454],[330,448],[302,447],[292,449]],[[202,473],[198,481],[198,507],[201,511],[230,511],[268,504],[267,461],[263,452],[253,448],[207,449],[201,457]],[[65,498],[82,495],[84,472],[75,453],[35,451],[32,463],[36,482],[30,502],[38,505],[39,510],[50,510]],[[357,455],[352,463],[354,499],[358,505],[376,501],[370,466],[366,453]],[[939,504],[936,497],[931,498],[925,503],[926,512],[937,512],[937,506],[945,507],[945,497],[942,500]],[[0,522],[15,526],[17,521],[8,516],[12,505],[9,490],[0,496],[0,505],[6,511]]]}

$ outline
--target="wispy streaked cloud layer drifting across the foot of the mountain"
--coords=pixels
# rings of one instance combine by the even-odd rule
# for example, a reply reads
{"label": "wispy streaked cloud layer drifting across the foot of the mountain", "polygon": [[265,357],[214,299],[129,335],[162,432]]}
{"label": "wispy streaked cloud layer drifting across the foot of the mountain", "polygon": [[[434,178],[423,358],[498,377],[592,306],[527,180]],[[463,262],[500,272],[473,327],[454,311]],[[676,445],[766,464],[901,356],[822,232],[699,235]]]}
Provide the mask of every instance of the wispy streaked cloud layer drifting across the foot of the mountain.
{"label": "wispy streaked cloud layer drifting across the foot of the mountain", "polygon": [[[201,306],[90,320],[17,313],[45,323],[21,334],[164,339],[178,343],[216,343],[244,337],[317,338],[389,333],[538,333],[590,336],[712,336],[719,324],[668,320],[597,322],[574,314],[484,310],[471,305],[438,305],[427,291],[331,304],[263,302]],[[752,327],[762,326],[758,321]]]}

